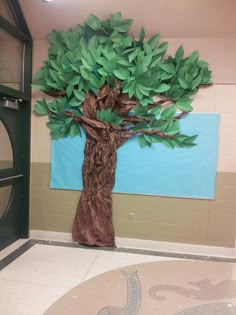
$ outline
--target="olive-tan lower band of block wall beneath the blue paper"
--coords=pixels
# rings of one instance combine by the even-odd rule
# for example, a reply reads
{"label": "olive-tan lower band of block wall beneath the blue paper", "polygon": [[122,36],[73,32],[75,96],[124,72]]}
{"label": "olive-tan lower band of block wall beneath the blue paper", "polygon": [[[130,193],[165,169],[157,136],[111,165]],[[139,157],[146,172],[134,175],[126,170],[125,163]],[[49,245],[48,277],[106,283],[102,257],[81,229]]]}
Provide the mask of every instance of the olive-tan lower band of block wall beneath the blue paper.
{"label": "olive-tan lower band of block wall beneath the blue paper", "polygon": [[[70,232],[80,192],[49,189],[49,164],[33,163],[31,177],[31,228]],[[217,174],[215,200],[113,194],[116,235],[232,246],[236,230],[235,178],[232,173]],[[129,221],[130,212],[134,213],[134,221]]]}

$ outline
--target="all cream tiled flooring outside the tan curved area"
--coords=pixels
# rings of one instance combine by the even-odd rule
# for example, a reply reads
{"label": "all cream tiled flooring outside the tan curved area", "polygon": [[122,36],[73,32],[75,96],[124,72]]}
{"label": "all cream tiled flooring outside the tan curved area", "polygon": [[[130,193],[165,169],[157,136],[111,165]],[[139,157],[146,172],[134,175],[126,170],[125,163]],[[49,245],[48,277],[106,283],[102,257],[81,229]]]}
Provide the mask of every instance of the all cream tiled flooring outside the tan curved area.
{"label": "all cream tiled flooring outside the tan curved area", "polygon": [[[0,260],[24,242],[19,240],[0,252]],[[87,279],[127,265],[165,260],[175,259],[35,244],[0,271],[0,314],[42,315],[61,296]]]}

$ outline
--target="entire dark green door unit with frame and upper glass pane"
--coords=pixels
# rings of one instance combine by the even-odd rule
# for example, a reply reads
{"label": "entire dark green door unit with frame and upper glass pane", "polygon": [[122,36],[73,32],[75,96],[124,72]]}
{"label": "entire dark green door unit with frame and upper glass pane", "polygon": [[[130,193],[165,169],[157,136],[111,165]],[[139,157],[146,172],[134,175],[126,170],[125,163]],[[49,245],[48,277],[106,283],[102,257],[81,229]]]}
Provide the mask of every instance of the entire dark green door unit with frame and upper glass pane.
{"label": "entire dark green door unit with frame and upper glass pane", "polygon": [[28,236],[32,43],[18,1],[0,9],[1,250]]}

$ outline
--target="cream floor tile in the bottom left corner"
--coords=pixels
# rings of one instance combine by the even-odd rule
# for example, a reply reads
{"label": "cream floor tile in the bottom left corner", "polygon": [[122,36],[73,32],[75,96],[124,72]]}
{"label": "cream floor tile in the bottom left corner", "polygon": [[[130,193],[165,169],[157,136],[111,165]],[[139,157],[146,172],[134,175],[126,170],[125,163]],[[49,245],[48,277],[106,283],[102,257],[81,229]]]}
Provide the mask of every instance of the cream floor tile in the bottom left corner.
{"label": "cream floor tile in the bottom left corner", "polygon": [[68,288],[0,280],[1,315],[42,315]]}

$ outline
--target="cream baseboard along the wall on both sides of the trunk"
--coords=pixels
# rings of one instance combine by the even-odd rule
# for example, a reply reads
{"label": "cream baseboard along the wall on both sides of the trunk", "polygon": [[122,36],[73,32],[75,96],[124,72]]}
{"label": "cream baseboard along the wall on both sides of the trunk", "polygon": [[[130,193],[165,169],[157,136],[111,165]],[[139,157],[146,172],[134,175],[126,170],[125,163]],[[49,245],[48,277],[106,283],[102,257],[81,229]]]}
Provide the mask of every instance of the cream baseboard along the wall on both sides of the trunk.
{"label": "cream baseboard along the wall on both sides of the trunk", "polygon": [[[73,242],[71,233],[31,230],[30,238],[39,240]],[[117,247],[151,250],[165,253],[203,255],[211,257],[236,258],[236,248],[158,242],[150,240],[116,237]]]}

